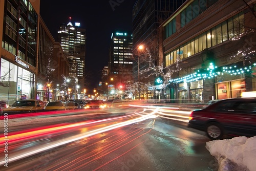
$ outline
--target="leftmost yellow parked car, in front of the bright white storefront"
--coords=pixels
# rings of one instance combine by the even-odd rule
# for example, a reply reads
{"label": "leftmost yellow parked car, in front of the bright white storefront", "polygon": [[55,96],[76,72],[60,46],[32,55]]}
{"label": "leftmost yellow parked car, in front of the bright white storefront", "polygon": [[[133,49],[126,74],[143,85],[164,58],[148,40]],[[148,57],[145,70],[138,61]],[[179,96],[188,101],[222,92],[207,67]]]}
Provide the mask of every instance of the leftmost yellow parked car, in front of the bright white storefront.
{"label": "leftmost yellow parked car, in front of the bright white storefront", "polygon": [[4,109],[3,113],[24,114],[45,111],[45,103],[41,100],[17,100],[9,108]]}

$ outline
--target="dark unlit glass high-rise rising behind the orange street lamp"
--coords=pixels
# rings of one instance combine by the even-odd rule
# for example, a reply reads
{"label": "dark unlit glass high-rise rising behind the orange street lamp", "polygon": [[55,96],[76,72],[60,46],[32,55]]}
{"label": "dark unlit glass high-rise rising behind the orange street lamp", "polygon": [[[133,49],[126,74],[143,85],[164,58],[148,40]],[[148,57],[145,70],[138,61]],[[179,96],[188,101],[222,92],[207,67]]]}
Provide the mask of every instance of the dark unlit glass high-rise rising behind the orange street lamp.
{"label": "dark unlit glass high-rise rising behind the orange street lamp", "polygon": [[[148,68],[148,62],[139,59],[140,52],[138,48],[143,45],[144,49],[151,50],[151,53],[158,52],[155,47],[150,45],[152,41],[155,41],[155,45],[158,44],[157,28],[173,14],[185,0],[138,0],[133,7],[133,54],[136,61],[133,64],[133,77],[135,80],[140,81],[138,72],[146,70]],[[158,56],[155,56],[158,57]],[[155,59],[153,59],[155,60]],[[159,65],[159,61],[153,61],[156,65]],[[148,79],[152,83],[153,80]],[[143,96],[143,93],[142,95]]]}

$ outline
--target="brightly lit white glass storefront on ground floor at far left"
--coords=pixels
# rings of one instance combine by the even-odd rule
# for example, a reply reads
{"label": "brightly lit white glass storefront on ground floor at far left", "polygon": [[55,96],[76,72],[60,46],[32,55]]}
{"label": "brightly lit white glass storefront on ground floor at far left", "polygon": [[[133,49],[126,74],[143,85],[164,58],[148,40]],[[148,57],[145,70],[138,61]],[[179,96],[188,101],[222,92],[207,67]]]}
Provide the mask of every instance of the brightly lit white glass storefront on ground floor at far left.
{"label": "brightly lit white glass storefront on ground floor at far left", "polygon": [[34,98],[35,74],[26,70],[29,65],[18,57],[15,62],[1,58],[0,98],[9,105],[19,99]]}

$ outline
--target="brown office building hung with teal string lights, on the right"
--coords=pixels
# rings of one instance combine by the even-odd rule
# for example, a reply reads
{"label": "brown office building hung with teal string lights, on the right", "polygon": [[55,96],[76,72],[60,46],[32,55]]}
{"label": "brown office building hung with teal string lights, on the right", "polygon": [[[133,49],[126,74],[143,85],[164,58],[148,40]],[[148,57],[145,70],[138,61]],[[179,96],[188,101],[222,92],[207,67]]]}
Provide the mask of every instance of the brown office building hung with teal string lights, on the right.
{"label": "brown office building hung with teal string lights, on the right", "polygon": [[256,1],[186,1],[160,27],[167,99],[207,102],[256,91]]}

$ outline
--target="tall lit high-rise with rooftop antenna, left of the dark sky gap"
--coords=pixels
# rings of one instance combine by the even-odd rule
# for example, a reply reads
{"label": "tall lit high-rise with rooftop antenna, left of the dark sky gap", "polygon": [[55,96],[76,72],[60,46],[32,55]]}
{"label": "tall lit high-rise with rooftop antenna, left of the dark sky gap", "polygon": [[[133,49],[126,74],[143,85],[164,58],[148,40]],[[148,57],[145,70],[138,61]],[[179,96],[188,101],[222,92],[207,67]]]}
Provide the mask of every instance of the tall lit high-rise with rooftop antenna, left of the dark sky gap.
{"label": "tall lit high-rise with rooftop antenna, left of the dark sky gap", "polygon": [[63,52],[69,59],[69,76],[78,79],[78,85],[84,87],[84,63],[86,57],[86,29],[80,28],[80,23],[62,24],[58,31],[58,41]]}

